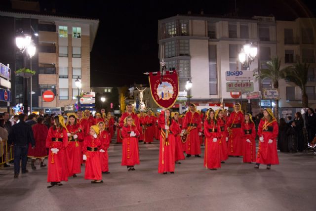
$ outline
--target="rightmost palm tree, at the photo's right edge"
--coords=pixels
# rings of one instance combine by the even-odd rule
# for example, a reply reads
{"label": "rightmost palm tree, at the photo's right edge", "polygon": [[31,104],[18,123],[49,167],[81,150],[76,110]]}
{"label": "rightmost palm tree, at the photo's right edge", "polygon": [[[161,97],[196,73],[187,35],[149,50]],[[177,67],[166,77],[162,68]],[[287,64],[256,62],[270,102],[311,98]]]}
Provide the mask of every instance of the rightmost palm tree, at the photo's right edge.
{"label": "rightmost palm tree, at the photo's right edge", "polygon": [[293,65],[289,71],[284,74],[285,80],[293,82],[295,85],[299,86],[302,90],[302,106],[303,108],[308,108],[308,95],[306,93],[306,84],[308,81],[308,69],[310,64],[297,62]]}

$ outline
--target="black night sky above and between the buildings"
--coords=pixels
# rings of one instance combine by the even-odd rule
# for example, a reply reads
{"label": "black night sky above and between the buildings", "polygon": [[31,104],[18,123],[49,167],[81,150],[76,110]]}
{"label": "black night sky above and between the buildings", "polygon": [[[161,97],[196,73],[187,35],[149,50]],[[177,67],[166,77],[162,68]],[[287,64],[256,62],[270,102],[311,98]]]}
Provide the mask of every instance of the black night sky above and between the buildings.
{"label": "black night sky above and between the buildings", "polygon": [[[224,15],[235,11],[235,0],[40,0],[41,8],[98,18],[91,52],[91,86],[148,83],[143,72],[157,71],[158,19],[177,14]],[[236,0],[240,17],[275,15],[277,20],[312,17],[316,0]]]}

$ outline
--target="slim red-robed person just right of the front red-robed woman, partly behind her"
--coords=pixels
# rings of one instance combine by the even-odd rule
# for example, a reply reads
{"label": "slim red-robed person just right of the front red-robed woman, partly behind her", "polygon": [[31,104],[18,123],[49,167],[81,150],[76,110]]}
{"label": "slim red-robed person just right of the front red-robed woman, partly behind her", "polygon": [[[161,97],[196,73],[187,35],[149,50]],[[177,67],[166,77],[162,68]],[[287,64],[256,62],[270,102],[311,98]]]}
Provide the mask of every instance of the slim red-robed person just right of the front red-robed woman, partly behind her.
{"label": "slim red-robed person just right of the front red-robed woman, partly behind her", "polygon": [[220,148],[220,156],[221,156],[221,163],[224,164],[225,161],[228,159],[227,154],[227,144],[228,141],[228,132],[227,132],[227,126],[226,126],[226,120],[223,116],[223,110],[219,109],[215,112],[215,118],[218,122],[218,125],[220,127],[220,138],[219,138],[219,148]]}

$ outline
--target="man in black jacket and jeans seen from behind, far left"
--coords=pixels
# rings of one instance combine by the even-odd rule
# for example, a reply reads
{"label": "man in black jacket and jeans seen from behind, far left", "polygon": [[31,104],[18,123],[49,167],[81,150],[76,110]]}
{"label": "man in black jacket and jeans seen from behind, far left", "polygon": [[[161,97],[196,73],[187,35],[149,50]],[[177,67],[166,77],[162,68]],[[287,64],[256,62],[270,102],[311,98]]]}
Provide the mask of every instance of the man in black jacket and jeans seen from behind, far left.
{"label": "man in black jacket and jeans seen from behind, far left", "polygon": [[28,148],[31,143],[35,147],[32,128],[24,122],[25,114],[19,114],[19,123],[12,126],[8,137],[8,145],[14,146],[14,178],[19,177],[20,158],[22,158],[22,173],[27,173]]}

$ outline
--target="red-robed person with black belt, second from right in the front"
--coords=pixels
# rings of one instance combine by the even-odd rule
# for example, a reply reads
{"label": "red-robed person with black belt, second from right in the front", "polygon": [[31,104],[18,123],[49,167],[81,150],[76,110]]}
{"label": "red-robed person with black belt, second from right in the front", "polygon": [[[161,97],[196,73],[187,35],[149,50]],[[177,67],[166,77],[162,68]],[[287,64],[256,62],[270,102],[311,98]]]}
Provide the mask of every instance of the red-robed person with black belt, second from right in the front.
{"label": "red-robed person with black belt, second from right in the front", "polygon": [[251,114],[244,115],[244,121],[241,123],[241,140],[243,142],[243,163],[256,161],[256,127],[252,121]]}

